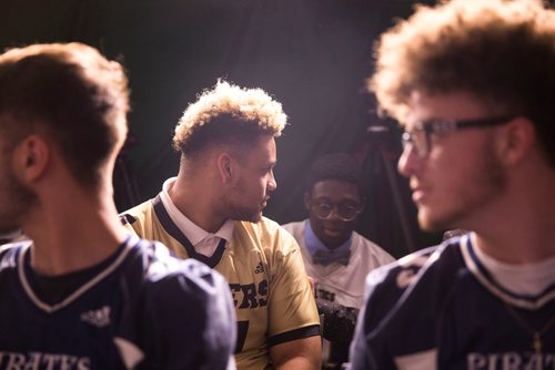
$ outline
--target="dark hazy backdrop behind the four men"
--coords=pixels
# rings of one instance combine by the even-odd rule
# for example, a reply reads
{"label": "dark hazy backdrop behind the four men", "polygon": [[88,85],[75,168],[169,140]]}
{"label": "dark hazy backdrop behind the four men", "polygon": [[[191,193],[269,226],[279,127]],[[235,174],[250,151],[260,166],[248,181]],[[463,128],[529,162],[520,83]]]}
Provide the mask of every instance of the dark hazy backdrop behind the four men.
{"label": "dark hazy backdrop behind the four men", "polygon": [[[432,2],[432,1],[428,1]],[[365,79],[372,44],[411,0],[0,1],[0,47],[81,41],[127,68],[130,138],[114,176],[120,210],[176,174],[172,131],[218,78],[262,88],[290,125],[278,140],[278,191],[265,215],[306,216],[303,174],[320,155],[356,155],[369,174],[359,230],[396,257],[440,239],[418,232],[406,179],[396,174],[398,129],[375,115]],[[370,129],[370,130],[369,130]]]}

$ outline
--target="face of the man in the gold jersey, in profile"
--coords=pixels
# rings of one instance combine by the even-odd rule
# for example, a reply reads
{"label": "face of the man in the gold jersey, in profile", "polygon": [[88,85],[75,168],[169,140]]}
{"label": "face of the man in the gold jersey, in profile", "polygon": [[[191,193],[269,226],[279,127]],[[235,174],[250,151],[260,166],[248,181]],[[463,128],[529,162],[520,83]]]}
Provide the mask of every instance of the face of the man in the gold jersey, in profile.
{"label": "face of the man in the gold jersey, in profile", "polygon": [[243,161],[238,161],[239,178],[229,197],[230,218],[258,223],[262,209],[275,191],[273,168],[276,163],[275,141],[271,135],[252,143]]}

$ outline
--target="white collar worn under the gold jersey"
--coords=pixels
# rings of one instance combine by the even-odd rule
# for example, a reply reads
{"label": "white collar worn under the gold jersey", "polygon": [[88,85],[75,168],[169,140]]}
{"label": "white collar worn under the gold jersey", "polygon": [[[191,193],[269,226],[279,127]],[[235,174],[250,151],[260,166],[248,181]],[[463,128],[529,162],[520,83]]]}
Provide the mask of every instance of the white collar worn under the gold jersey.
{"label": "white collar worn under the gold jersey", "polygon": [[194,224],[175,207],[170,198],[169,191],[175,183],[175,179],[176,177],[168,178],[162,185],[162,192],[160,192],[162,204],[175,226],[178,226],[181,233],[191,241],[194,250],[201,255],[212,257],[221,239],[225,239],[225,248],[228,248],[233,234],[234,222],[232,219],[225,220],[222,227],[213,234]]}

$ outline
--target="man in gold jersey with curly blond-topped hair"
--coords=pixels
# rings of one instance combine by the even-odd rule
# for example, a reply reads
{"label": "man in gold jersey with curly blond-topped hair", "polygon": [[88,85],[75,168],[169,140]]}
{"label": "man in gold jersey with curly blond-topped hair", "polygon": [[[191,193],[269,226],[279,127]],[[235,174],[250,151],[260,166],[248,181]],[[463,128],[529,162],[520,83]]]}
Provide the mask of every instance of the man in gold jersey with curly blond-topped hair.
{"label": "man in gold jersey with curly blond-topped hair", "polygon": [[239,369],[319,369],[319,316],[297,244],[262,216],[276,188],[281,104],[219,81],[185,110],[173,137],[176,177],[122,214],[142,237],[199,259],[229,281]]}

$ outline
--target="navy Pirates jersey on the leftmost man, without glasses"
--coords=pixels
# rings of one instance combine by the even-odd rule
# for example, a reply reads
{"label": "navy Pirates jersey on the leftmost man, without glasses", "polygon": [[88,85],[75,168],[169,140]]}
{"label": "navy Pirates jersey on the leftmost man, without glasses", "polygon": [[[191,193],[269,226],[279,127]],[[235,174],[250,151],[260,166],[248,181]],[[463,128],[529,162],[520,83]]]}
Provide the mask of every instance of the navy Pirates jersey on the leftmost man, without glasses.
{"label": "navy Pirates jersey on the leftmost man, without glasses", "polygon": [[62,301],[42,301],[24,260],[0,251],[0,369],[230,369],[235,318],[208,266],[135,237]]}

